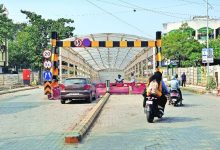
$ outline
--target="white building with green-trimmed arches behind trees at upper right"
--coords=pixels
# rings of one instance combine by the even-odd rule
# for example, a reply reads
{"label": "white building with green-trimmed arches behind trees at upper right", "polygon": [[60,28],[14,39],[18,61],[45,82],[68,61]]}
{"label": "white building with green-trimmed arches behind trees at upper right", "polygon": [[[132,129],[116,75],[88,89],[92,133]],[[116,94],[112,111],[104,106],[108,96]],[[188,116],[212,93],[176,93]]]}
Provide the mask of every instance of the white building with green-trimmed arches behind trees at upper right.
{"label": "white building with green-trimmed arches behind trees at upper right", "polygon": [[[196,16],[192,20],[182,22],[171,22],[163,24],[163,33],[175,31],[181,27],[182,24],[187,23],[192,30],[192,36],[200,42],[204,42],[207,38],[207,16]],[[220,35],[220,20],[208,18],[209,38],[217,38]]]}

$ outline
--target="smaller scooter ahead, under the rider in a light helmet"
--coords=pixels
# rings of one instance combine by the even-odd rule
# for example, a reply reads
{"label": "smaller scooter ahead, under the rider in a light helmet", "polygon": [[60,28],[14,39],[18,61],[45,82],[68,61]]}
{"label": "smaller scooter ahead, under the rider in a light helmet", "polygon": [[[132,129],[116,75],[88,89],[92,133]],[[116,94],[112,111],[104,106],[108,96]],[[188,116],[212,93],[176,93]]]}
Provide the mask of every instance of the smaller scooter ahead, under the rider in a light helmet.
{"label": "smaller scooter ahead, under the rider in a light helmet", "polygon": [[170,91],[169,105],[173,105],[173,106],[183,105],[182,100],[180,99],[180,94],[177,90]]}

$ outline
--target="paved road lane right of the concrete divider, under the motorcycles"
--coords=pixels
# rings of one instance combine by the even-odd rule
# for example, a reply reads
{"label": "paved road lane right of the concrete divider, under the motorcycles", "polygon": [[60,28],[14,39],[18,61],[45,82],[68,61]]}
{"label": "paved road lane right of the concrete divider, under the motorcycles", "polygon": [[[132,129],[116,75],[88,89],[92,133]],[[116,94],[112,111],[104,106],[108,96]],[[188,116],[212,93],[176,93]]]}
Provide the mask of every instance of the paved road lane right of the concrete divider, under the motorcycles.
{"label": "paved road lane right of the concrete divider, under the motorcycles", "polygon": [[[220,98],[184,92],[184,106],[166,106],[147,123],[140,95],[113,95],[79,150],[219,150]],[[72,149],[68,145],[64,149]]]}

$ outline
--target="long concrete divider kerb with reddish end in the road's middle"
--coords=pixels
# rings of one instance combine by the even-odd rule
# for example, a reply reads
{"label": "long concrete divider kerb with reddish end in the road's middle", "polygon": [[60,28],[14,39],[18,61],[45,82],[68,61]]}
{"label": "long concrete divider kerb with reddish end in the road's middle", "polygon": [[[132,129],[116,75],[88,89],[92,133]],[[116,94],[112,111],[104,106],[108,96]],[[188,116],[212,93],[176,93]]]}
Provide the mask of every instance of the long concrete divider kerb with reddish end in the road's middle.
{"label": "long concrete divider kerb with reddish end in the road's middle", "polygon": [[89,130],[91,125],[95,122],[97,116],[101,112],[103,106],[109,99],[110,94],[106,93],[96,104],[95,107],[86,115],[85,118],[73,129],[73,131],[65,136],[65,143],[79,143],[82,137]]}

